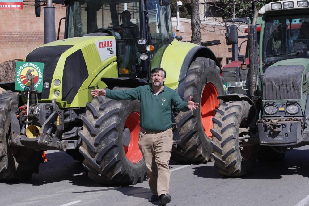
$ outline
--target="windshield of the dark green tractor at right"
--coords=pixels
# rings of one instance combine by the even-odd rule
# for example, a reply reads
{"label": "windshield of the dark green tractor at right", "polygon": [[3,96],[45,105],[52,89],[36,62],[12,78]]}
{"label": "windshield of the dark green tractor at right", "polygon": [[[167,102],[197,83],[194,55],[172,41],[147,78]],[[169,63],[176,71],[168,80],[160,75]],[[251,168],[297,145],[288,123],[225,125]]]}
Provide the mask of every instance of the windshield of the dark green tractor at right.
{"label": "windshield of the dark green tractor at right", "polygon": [[263,64],[309,58],[309,16],[269,16],[263,36]]}

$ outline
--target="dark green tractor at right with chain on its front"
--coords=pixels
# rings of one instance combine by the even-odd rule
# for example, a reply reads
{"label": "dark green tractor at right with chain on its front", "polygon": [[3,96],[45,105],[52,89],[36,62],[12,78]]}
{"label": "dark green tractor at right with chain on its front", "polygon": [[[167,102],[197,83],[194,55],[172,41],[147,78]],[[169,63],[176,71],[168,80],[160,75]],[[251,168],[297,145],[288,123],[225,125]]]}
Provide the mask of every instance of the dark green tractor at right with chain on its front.
{"label": "dark green tractor at right with chain on its front", "polygon": [[[246,95],[219,96],[223,103],[213,118],[212,156],[224,176],[248,175],[256,158],[280,160],[291,148],[309,144],[308,1],[269,3],[261,17],[253,8],[249,68],[244,55],[238,58],[239,74],[248,69]],[[259,53],[256,24],[261,24]],[[236,25],[227,27],[227,42],[237,42]]]}

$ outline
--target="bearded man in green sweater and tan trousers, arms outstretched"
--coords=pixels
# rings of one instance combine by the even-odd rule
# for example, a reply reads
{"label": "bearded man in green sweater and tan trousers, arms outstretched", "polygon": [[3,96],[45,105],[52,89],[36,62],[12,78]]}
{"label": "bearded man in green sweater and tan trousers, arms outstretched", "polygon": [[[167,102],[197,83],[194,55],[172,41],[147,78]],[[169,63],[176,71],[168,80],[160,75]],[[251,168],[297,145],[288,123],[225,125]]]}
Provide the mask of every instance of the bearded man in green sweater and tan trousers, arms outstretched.
{"label": "bearded man in green sweater and tan trousers, arms outstretched", "polygon": [[171,157],[173,132],[171,130],[172,105],[178,111],[189,111],[198,108],[198,103],[181,100],[172,89],[164,86],[166,72],[162,68],[151,71],[151,84],[130,90],[95,89],[93,97],[106,96],[115,100],[141,101],[139,148],[147,167],[147,180],[152,196],[150,202],[159,201],[166,205],[171,201],[168,186],[170,170],[168,163]]}

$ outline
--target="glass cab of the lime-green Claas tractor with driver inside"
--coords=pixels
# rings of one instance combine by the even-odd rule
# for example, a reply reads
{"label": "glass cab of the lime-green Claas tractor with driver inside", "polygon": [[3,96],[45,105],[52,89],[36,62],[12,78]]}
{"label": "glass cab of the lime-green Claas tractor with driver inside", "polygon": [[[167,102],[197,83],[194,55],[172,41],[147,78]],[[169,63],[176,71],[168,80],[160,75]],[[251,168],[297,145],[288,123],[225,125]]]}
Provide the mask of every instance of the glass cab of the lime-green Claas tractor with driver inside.
{"label": "glass cab of the lime-green Claas tractor with driver inside", "polygon": [[147,79],[174,39],[168,5],[161,0],[70,0],[65,38],[113,36],[118,77]]}

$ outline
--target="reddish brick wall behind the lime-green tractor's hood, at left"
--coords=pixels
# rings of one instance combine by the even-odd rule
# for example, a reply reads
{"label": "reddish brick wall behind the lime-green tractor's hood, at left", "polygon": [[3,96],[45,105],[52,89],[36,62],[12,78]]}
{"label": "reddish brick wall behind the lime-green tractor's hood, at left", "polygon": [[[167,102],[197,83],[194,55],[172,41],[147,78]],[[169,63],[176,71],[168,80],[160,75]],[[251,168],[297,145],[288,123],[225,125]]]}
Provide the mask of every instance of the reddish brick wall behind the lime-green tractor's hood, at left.
{"label": "reddish brick wall behind the lime-green tractor's hood, at left", "polygon": [[[59,20],[66,15],[66,7],[54,4],[56,7],[56,35]],[[23,60],[25,56],[44,44],[44,11],[41,6],[41,16],[36,17],[34,0],[23,1],[22,10],[0,10],[0,64],[9,60]],[[63,39],[64,21],[61,23],[59,39]]]}

